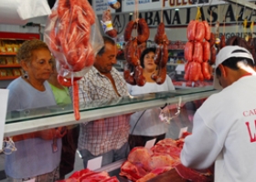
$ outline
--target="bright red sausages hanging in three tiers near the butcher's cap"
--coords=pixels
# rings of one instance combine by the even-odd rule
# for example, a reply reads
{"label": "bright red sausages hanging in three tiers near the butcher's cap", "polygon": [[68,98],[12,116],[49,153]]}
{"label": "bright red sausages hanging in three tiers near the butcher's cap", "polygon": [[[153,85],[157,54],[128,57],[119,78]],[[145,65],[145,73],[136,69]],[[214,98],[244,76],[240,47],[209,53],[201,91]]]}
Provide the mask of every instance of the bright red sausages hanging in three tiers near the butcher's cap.
{"label": "bright red sausages hanging in three tiers near the butcher's cap", "polygon": [[[208,60],[210,56],[211,34],[207,21],[191,20],[187,26],[187,44],[185,45],[184,78],[196,82],[210,79]],[[215,42],[215,39],[214,39]]]}

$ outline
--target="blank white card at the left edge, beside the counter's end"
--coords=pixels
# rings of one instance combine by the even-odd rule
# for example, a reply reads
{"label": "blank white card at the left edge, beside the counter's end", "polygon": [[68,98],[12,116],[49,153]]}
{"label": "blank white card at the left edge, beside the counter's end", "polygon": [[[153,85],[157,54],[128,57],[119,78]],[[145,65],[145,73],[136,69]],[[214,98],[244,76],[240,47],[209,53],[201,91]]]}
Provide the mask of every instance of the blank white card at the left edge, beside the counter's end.
{"label": "blank white card at the left edge, beside the counter's end", "polygon": [[8,100],[9,90],[0,89],[0,150],[3,146],[4,140],[4,129],[5,129],[5,117],[7,111],[7,100]]}

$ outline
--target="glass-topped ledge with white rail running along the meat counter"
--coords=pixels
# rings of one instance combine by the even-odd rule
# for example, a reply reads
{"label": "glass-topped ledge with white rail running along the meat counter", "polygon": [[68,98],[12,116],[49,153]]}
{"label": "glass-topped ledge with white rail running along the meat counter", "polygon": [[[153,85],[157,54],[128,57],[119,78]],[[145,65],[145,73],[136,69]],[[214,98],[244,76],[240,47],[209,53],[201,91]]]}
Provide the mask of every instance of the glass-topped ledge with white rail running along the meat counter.
{"label": "glass-topped ledge with white rail running along the meat counter", "polygon": [[6,116],[5,136],[16,136],[57,126],[90,122],[95,119],[133,113],[153,107],[176,105],[179,100],[185,104],[207,98],[217,92],[219,91],[213,89],[212,86],[206,86],[93,101],[80,104],[80,121],[75,120],[72,105],[13,111],[7,113]]}

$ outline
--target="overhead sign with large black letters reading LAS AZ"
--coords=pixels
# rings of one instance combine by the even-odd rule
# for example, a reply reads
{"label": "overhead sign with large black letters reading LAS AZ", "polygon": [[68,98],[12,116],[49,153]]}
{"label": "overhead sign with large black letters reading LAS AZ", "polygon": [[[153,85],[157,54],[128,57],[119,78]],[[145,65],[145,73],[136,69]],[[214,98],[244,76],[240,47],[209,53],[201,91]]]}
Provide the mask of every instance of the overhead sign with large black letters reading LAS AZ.
{"label": "overhead sign with large black letters reading LAS AZ", "polygon": [[[185,1],[185,0],[184,0]],[[215,32],[215,25],[219,22],[219,35],[225,34],[226,38],[232,35],[243,36],[244,33],[251,34],[251,22],[256,21],[256,12],[237,5],[204,5],[200,9],[202,20],[208,21],[211,26],[211,32]],[[161,22],[161,11],[147,11],[139,13],[139,17],[143,17],[150,28],[149,40],[154,40],[157,25]],[[181,8],[179,11],[175,9],[163,10],[163,20],[165,23],[165,32],[170,40],[187,41],[187,25],[190,20],[195,19],[197,15],[196,7]],[[99,15],[99,18],[100,15]],[[243,28],[243,21],[247,19],[248,25]],[[133,15],[116,14],[112,15],[112,25],[118,31],[118,36],[122,36],[125,26],[133,19]],[[225,22],[224,22],[225,20]],[[254,26],[253,26],[254,27]],[[253,34],[256,28],[252,30]]]}

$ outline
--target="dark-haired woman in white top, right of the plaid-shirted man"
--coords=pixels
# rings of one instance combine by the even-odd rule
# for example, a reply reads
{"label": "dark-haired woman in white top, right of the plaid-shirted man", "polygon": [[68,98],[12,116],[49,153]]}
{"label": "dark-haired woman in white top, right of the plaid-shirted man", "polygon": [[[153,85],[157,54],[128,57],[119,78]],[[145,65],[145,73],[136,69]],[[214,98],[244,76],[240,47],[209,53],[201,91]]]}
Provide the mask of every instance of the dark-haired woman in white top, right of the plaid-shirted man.
{"label": "dark-haired woman in white top, right of the plaid-shirted man", "polygon": [[[141,66],[144,67],[144,77],[146,83],[144,86],[128,85],[129,93],[134,95],[163,92],[175,90],[175,86],[169,76],[166,76],[165,82],[162,85],[157,85],[151,78],[155,72],[155,48],[146,48],[140,57]],[[130,119],[130,147],[144,146],[145,143],[153,138],[156,142],[165,138],[167,126],[159,119],[161,109],[147,109],[136,112]]]}

